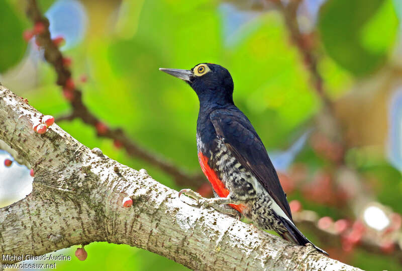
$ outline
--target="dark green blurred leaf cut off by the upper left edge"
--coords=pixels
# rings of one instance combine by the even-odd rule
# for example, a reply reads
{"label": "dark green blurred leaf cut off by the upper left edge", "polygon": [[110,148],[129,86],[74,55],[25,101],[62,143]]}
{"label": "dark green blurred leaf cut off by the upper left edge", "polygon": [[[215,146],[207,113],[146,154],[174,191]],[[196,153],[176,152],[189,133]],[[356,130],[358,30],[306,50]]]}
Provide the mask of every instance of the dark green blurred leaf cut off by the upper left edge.
{"label": "dark green blurred leaf cut off by the upper left edge", "polygon": [[23,23],[6,1],[0,1],[0,72],[17,64],[24,56],[27,43],[23,39]]}

